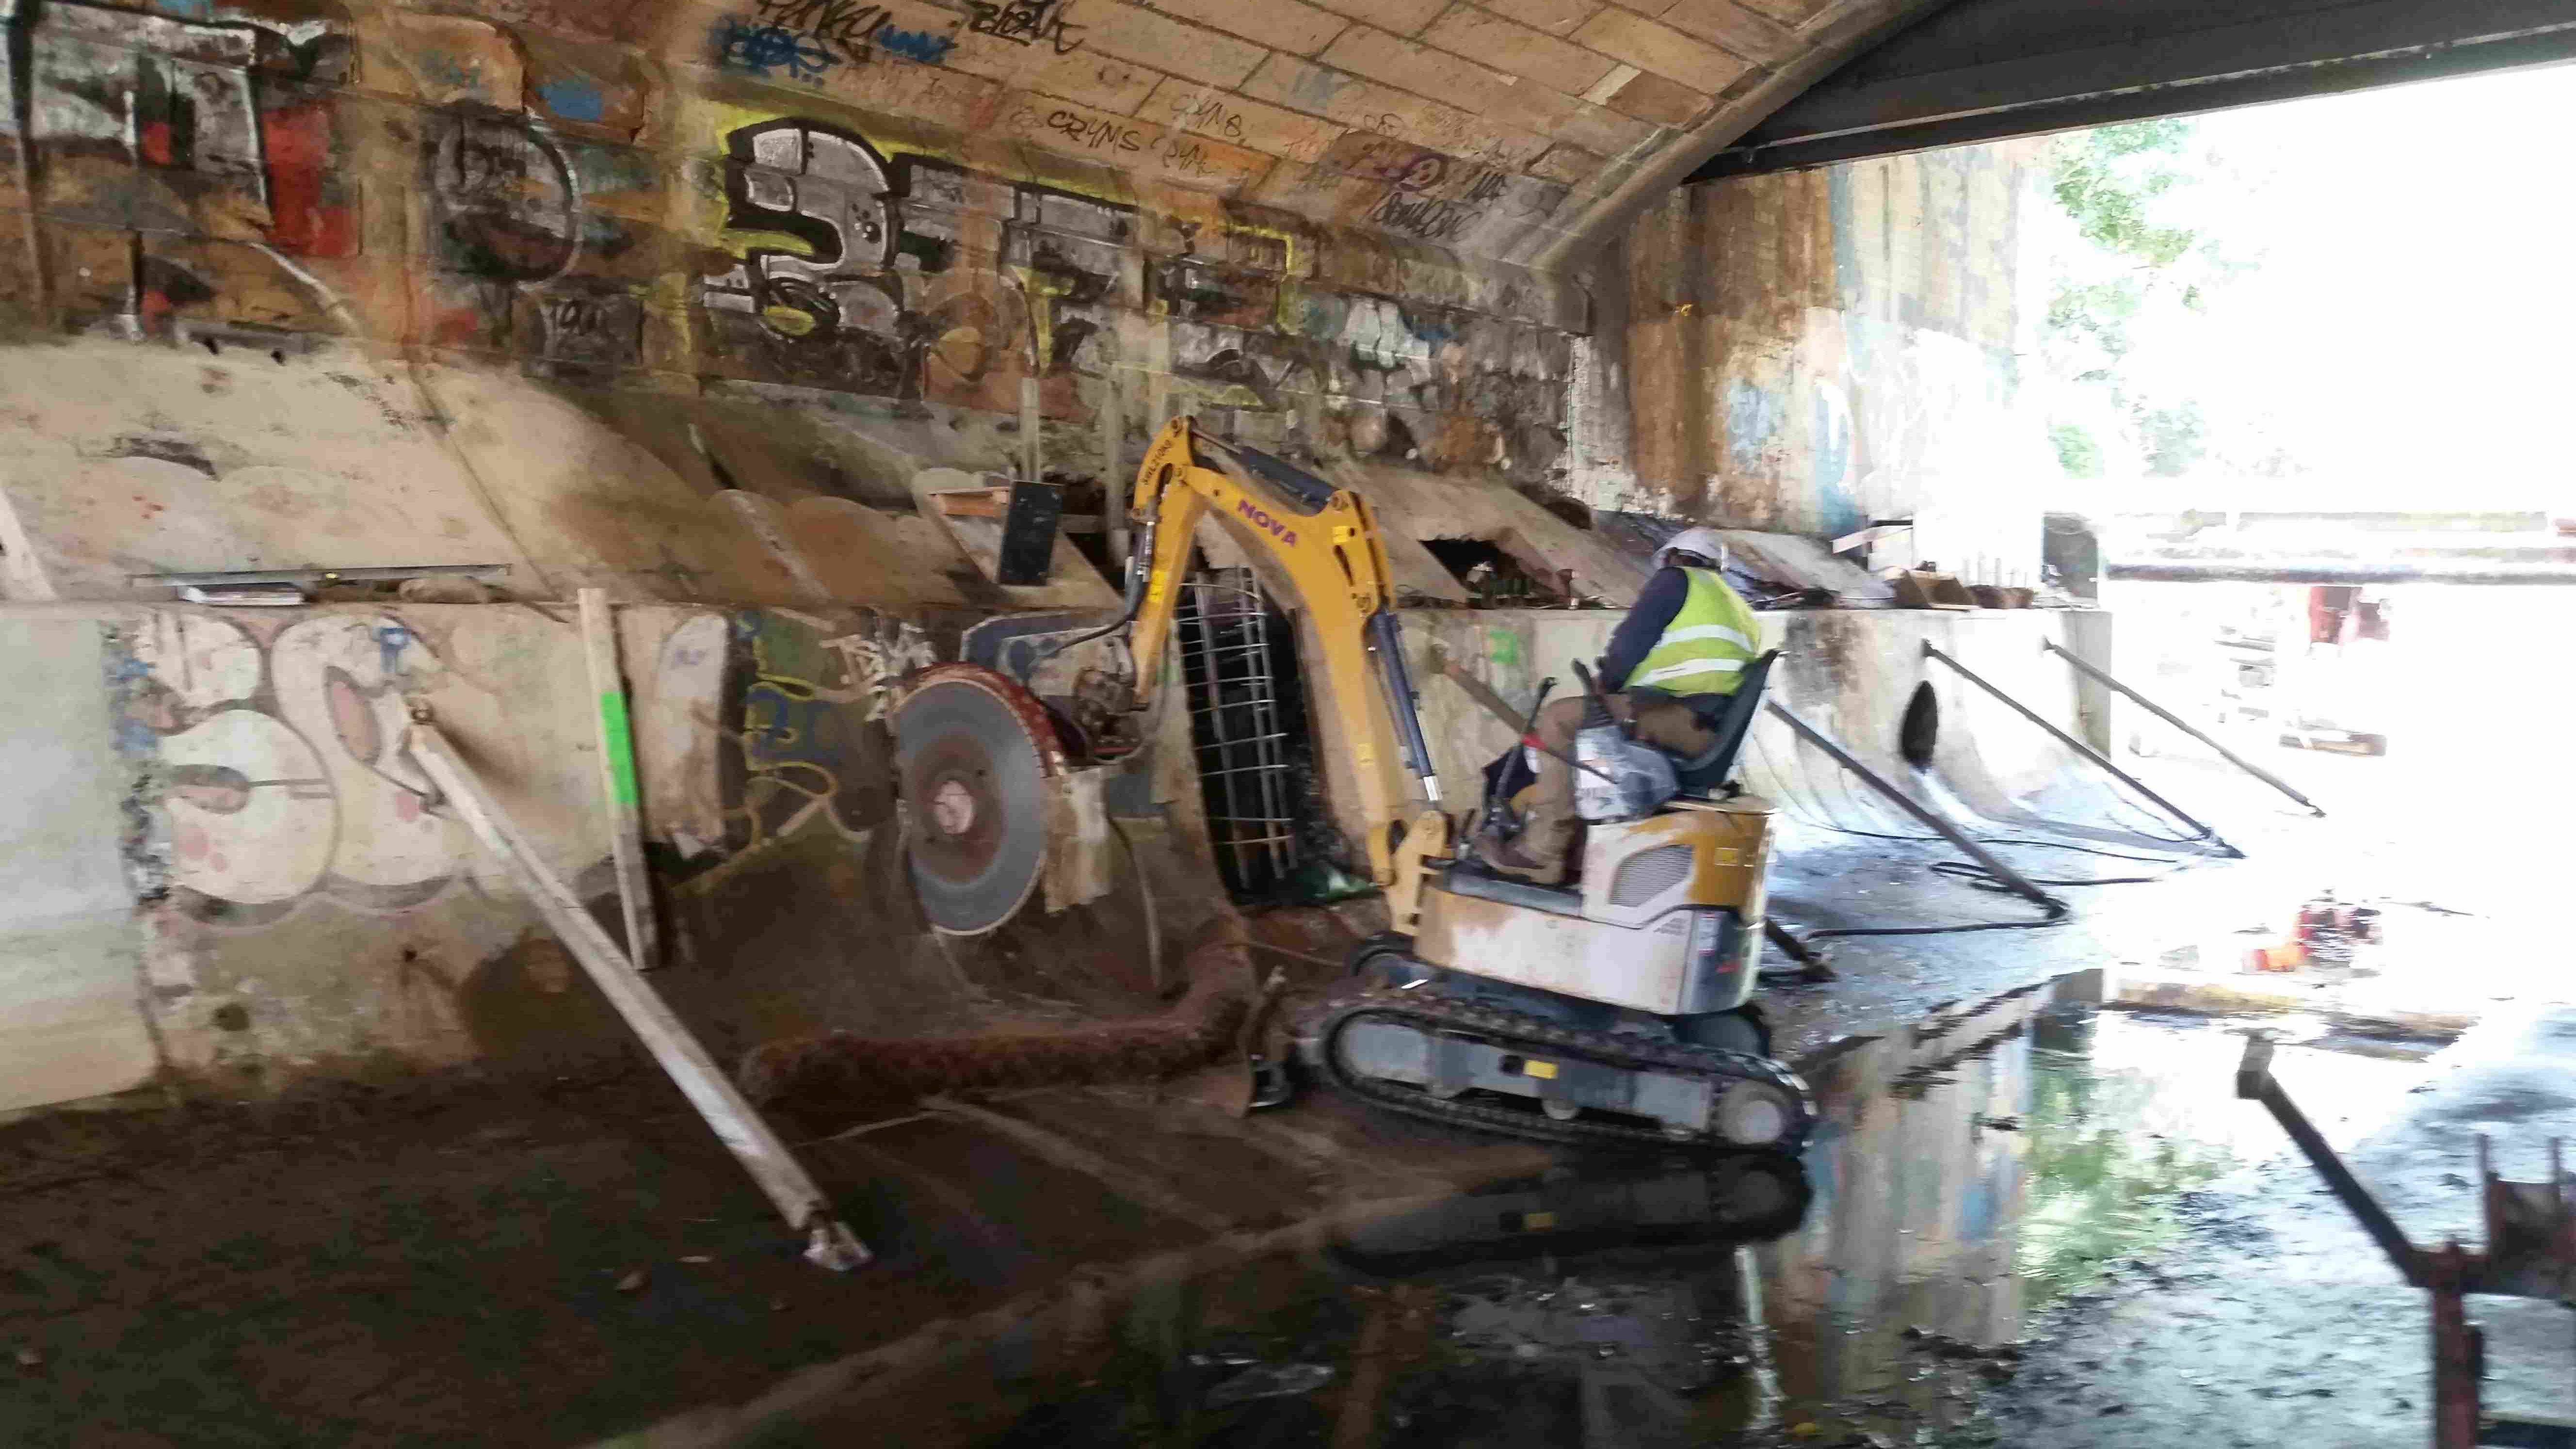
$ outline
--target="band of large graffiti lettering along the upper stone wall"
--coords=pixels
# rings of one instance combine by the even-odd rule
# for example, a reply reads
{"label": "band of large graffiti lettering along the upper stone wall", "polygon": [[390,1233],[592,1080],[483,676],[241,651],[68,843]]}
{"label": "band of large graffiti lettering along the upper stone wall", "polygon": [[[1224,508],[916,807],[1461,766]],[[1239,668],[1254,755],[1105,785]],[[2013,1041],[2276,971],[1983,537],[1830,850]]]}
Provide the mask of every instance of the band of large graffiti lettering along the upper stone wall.
{"label": "band of large graffiti lettering along the upper stone wall", "polygon": [[[0,268],[0,297],[33,276],[67,317],[144,330],[335,330],[363,325],[355,307],[389,335],[574,379],[652,358],[1002,415],[1036,382],[1041,413],[1061,423],[1090,423],[1115,382],[1131,418],[1146,392],[1170,392],[1180,407],[1234,410],[1247,436],[1435,469],[1520,459],[1540,472],[1561,451],[1566,338],[1530,338],[1535,327],[1481,309],[1455,273],[1414,286],[1396,255],[1311,281],[1319,232],[1296,214],[1216,196],[1188,214],[1141,211],[1082,170],[961,165],[927,155],[945,142],[922,126],[876,131],[837,106],[809,116],[716,101],[719,155],[675,160],[618,139],[654,129],[670,80],[634,57],[564,49],[559,8],[520,0],[489,13],[531,15],[528,34],[466,15],[404,23],[389,44],[422,108],[381,134],[353,129],[332,98],[350,80],[348,23],[325,0],[281,18],[301,3],[8,8],[26,62],[0,67],[0,126],[26,131],[46,227],[62,222],[64,237],[44,242],[46,266]],[[951,31],[855,0],[719,10],[716,59],[732,72],[817,80],[891,57],[912,77],[902,95],[984,85],[976,95],[999,101],[994,129],[1056,152],[1180,180],[1236,165],[1226,157],[1265,162],[1244,150],[1262,142],[1260,121],[1221,98],[1172,101],[1167,126],[1159,111],[1149,121],[992,93],[940,70],[961,44],[1082,52],[1079,0],[981,3]],[[631,41],[629,21],[608,31]],[[358,255],[358,142],[379,147],[371,157],[412,147],[415,175],[384,196],[394,206],[417,191],[417,209],[394,211],[417,217],[428,266],[399,263],[399,281],[296,260]],[[1378,134],[1347,134],[1321,160],[1319,175],[1381,188],[1350,219],[1440,245],[1517,227],[1564,191]],[[397,266],[389,248],[384,258]]]}

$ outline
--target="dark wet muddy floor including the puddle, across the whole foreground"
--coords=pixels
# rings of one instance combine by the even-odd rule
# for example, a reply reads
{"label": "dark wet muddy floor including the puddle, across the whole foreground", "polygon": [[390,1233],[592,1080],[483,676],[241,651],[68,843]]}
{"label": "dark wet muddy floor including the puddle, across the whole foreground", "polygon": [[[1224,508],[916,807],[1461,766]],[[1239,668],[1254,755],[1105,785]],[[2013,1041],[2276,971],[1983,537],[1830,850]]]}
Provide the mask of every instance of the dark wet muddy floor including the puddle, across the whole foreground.
{"label": "dark wet muddy floor including the puddle, across the whole foreground", "polygon": [[[1798,1163],[1569,1158],[1329,1098],[1234,1122],[1188,1088],[933,1101],[804,1147],[878,1250],[850,1279],[793,1258],[657,1083],[247,1158],[224,1122],[155,1160],[13,1129],[52,1168],[0,1178],[0,1441],[2020,1441],[2050,1318],[2280,1150],[2231,1098],[2236,1031],[2097,995],[1829,1052]],[[2427,1073],[2424,1044],[2334,1047],[2280,1067],[2321,1116]]]}

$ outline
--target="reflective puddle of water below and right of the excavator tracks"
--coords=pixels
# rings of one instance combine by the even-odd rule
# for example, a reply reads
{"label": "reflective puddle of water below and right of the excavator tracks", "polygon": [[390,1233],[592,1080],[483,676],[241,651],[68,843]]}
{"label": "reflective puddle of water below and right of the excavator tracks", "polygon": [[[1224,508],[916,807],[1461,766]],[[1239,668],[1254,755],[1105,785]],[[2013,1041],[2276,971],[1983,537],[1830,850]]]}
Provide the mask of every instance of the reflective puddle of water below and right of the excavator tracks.
{"label": "reflective puddle of water below and right of the excavator tracks", "polygon": [[[2233,1098],[2233,1029],[2097,1000],[2081,975],[1837,1049],[1801,1163],[1561,1158],[1077,1274],[811,1372],[752,1441],[1973,1444],[2030,1315],[2282,1150]],[[2303,1047],[2277,1070],[2339,1140],[2421,1075]]]}

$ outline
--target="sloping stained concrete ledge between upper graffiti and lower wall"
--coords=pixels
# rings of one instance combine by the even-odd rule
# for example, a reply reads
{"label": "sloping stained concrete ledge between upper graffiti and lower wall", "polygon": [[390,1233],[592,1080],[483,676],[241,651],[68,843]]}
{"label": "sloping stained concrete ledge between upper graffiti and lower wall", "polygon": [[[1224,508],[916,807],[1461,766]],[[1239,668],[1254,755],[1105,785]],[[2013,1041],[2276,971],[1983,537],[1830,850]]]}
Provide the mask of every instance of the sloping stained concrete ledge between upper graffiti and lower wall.
{"label": "sloping stained concrete ledge between upper graffiti and lower wall", "polygon": [[502,598],[1079,606],[987,583],[909,482],[1007,456],[948,425],[744,397],[554,389],[495,366],[111,338],[0,348],[13,598],[167,601],[137,572],[502,565]]}

